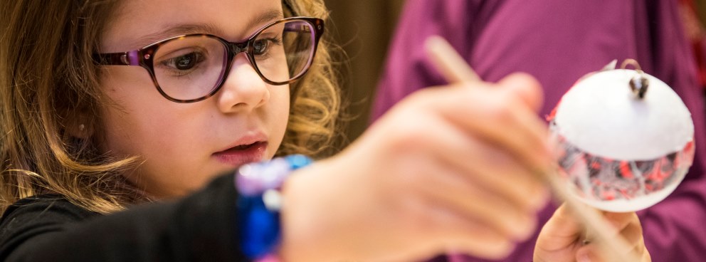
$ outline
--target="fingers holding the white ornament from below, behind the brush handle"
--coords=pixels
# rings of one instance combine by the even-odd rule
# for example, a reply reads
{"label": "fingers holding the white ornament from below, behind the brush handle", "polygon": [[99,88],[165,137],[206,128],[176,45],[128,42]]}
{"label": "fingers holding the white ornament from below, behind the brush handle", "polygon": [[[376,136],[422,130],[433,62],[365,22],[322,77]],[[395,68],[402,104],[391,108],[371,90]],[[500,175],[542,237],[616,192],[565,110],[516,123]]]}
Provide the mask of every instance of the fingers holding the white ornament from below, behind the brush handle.
{"label": "fingers holding the white ornament from below, behind the brush handle", "polygon": [[[616,237],[622,237],[633,248],[625,253],[635,252],[642,261],[651,261],[643,241],[640,219],[635,212],[603,214],[615,227]],[[594,244],[584,244],[584,229],[584,226],[569,214],[565,205],[559,206],[539,233],[539,239],[534,246],[534,261],[602,261]]]}

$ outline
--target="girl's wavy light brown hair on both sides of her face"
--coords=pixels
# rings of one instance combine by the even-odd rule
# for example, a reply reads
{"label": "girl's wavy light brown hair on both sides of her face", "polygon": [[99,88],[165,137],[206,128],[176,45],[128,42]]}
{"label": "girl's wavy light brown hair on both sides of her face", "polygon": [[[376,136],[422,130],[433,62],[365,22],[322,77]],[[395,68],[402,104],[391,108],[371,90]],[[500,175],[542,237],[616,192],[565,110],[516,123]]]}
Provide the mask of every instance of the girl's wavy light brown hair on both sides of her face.
{"label": "girl's wavy light brown hair on both sides of her face", "polygon": [[[0,1],[0,212],[37,194],[60,194],[99,213],[145,201],[120,175],[137,157],[98,150],[100,115],[80,114],[92,137],[72,136],[80,112],[100,112],[98,51],[119,1]],[[285,0],[285,16],[328,21],[322,0]],[[304,78],[290,85],[290,117],[278,155],[329,152],[337,134],[339,89],[330,37]],[[84,119],[85,118],[85,119]]]}

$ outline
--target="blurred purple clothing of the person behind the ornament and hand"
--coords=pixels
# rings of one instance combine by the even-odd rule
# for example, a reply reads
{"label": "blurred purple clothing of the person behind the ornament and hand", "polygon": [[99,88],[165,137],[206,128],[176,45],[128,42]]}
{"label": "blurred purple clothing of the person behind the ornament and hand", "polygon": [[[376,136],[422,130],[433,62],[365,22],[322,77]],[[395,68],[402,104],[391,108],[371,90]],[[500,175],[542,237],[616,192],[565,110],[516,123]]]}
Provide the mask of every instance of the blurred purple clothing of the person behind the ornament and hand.
{"label": "blurred purple clothing of the person behind the ornament and hand", "polygon": [[[613,59],[620,65],[635,58],[646,73],[670,85],[692,112],[694,165],[668,199],[638,214],[653,261],[704,260],[704,100],[677,1],[409,0],[389,50],[373,119],[414,90],[445,83],[424,57],[423,42],[434,34],[447,38],[484,80],[516,71],[534,75],[544,86],[542,116],[582,75]],[[542,224],[554,208],[539,214]],[[520,243],[503,261],[532,261],[536,239],[535,234]]]}

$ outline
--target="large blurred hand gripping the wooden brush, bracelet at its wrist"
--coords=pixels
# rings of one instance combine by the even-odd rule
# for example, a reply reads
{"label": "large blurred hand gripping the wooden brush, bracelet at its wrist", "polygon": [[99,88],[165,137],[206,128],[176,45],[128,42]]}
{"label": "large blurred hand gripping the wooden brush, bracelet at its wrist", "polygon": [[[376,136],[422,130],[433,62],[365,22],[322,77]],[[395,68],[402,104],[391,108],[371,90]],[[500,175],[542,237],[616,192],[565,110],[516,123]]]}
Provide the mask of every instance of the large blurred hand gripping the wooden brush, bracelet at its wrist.
{"label": "large blurred hand gripping the wooden brush, bracelet at its wrist", "polygon": [[548,198],[552,161],[539,83],[426,88],[347,150],[283,187],[287,261],[411,261],[445,251],[506,256]]}

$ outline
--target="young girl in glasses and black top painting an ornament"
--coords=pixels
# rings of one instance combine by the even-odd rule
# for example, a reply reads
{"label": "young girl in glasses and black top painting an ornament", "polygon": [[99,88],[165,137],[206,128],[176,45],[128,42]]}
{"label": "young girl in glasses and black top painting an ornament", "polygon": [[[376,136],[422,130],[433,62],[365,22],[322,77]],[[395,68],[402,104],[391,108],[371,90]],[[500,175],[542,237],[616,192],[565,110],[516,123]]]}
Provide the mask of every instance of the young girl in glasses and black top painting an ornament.
{"label": "young girl in glasses and black top painting an ornament", "polygon": [[[0,260],[501,258],[529,238],[552,157],[527,75],[417,93],[307,167],[248,164],[332,141],[316,17],[316,0],[3,1]],[[540,257],[593,254],[568,217]],[[648,258],[621,231],[636,217],[613,220]]]}

